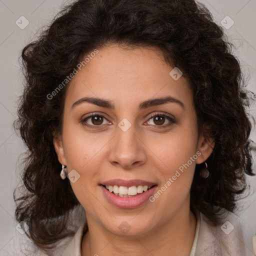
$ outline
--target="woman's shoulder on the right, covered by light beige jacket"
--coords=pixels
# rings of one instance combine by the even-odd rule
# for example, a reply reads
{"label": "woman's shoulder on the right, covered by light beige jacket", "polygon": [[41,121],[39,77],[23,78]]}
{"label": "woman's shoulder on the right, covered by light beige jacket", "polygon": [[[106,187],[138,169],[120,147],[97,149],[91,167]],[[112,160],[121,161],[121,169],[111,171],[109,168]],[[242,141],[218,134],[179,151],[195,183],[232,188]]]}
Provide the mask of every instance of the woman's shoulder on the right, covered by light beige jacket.
{"label": "woman's shoulder on the right, covered by light beige jacket", "polygon": [[237,215],[224,211],[223,220],[213,225],[199,213],[200,228],[195,256],[252,256],[249,227]]}

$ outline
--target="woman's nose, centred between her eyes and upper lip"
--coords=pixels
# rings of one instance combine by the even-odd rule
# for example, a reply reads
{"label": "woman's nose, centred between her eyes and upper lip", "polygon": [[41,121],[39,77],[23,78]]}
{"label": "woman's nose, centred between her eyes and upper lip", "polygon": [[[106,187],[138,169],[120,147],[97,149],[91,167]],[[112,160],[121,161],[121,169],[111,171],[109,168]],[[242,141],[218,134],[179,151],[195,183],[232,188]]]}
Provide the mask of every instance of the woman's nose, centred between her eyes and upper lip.
{"label": "woman's nose, centred between her eyes and upper lip", "polygon": [[116,128],[117,134],[111,140],[108,155],[111,164],[120,165],[124,169],[132,169],[146,162],[145,145],[132,126],[126,131]]}

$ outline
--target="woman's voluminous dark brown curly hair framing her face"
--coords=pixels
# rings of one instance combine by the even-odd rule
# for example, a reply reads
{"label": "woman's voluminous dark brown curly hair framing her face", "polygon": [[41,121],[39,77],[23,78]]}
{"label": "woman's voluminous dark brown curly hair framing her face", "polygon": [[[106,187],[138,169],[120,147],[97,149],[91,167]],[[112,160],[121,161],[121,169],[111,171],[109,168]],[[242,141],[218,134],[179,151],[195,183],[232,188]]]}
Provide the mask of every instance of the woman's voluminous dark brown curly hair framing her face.
{"label": "woman's voluminous dark brown curly hair framing her face", "polygon": [[71,235],[67,218],[79,205],[61,165],[53,136],[61,132],[65,91],[54,91],[84,55],[109,42],[155,46],[171,66],[189,80],[198,132],[215,141],[207,159],[210,176],[196,165],[190,207],[217,224],[221,210],[234,211],[253,175],[249,134],[251,122],[244,77],[223,29],[208,9],[194,0],[78,0],[62,8],[37,40],[22,50],[25,87],[19,101],[19,130],[28,150],[22,172],[25,191],[17,198],[15,217],[29,226],[27,235],[50,249]]}

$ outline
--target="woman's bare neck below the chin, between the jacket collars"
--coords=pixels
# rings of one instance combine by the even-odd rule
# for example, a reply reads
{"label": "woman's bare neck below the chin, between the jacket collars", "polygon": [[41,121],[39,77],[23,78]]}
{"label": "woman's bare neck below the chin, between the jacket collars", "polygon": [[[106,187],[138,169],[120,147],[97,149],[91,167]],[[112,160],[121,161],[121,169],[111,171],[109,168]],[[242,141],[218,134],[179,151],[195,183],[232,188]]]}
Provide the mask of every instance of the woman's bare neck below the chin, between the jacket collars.
{"label": "woman's bare neck below the chin, between the jacket collars", "polygon": [[[91,221],[90,221],[91,220]],[[195,236],[196,219],[190,209],[175,214],[167,223],[144,236],[116,236],[96,228],[98,222],[87,218],[88,231],[81,244],[81,256],[87,255],[179,255],[188,256]]]}

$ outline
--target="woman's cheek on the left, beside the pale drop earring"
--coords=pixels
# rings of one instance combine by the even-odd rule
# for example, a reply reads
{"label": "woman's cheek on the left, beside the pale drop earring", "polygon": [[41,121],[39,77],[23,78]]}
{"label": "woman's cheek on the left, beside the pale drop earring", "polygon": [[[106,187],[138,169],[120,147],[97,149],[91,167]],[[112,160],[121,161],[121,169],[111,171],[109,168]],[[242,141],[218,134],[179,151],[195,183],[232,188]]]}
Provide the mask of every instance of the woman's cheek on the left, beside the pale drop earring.
{"label": "woman's cheek on the left, beside the pale drop earring", "polygon": [[101,138],[96,133],[88,134],[67,124],[62,139],[68,171],[74,169],[79,173],[77,181],[71,182],[70,179],[72,190],[87,212],[96,211],[92,202],[95,201],[94,191],[102,159],[106,157],[103,155],[106,136]]}

